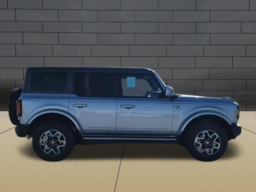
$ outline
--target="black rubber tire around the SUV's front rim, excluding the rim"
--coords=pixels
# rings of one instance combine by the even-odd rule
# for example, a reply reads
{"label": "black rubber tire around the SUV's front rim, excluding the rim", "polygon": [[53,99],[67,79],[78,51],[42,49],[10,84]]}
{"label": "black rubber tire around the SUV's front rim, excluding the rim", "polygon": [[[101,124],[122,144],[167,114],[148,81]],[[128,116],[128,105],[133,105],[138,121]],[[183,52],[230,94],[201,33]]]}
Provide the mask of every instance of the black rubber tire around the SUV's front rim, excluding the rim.
{"label": "black rubber tire around the SUV's front rim, excluding the rim", "polygon": [[[208,132],[203,132],[204,130],[208,130]],[[208,135],[212,135],[213,132],[215,132],[220,139],[220,142],[217,138],[216,135],[213,135],[212,138],[209,138]],[[196,137],[204,137],[202,134],[206,135],[205,139],[206,141],[210,139],[208,143],[209,145],[206,145],[206,141],[204,139],[199,139],[196,140],[197,142],[201,142],[203,148],[205,149],[203,152],[200,152],[198,149],[200,149],[200,144],[195,142]],[[208,134],[210,133],[210,134]],[[214,139],[217,138],[215,141],[220,143],[220,147],[218,149],[212,148],[214,143]],[[217,122],[212,122],[212,121],[201,121],[196,124],[193,124],[191,127],[186,130],[185,136],[184,136],[184,145],[190,155],[194,157],[197,160],[200,161],[214,161],[219,159],[220,157],[223,156],[223,154],[226,152],[226,149],[228,147],[228,136],[227,133],[220,124]],[[214,144],[215,146],[218,146],[218,144]],[[198,147],[199,146],[199,147]],[[209,147],[210,146],[210,147]],[[213,154],[208,154],[207,149],[209,153]],[[201,150],[201,149],[200,149]]]}

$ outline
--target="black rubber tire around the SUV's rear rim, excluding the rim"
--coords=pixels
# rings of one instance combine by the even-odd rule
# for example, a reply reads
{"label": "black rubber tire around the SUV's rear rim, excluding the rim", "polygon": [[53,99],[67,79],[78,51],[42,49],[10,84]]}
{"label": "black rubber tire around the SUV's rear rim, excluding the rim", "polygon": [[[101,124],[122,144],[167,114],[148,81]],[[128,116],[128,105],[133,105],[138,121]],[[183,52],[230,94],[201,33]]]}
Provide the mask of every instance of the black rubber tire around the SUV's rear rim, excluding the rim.
{"label": "black rubber tire around the SUV's rear rim, excluding the rim", "polygon": [[[58,147],[55,143],[56,146],[54,146],[53,148],[51,147],[51,145],[49,145],[50,148],[50,152],[49,154],[47,154],[46,152],[44,152],[44,149],[46,148],[44,145],[40,145],[40,138],[41,136],[48,130],[52,130],[51,133],[56,133],[55,131],[58,131],[59,133],[62,134],[62,136],[64,136],[64,139],[62,136],[58,136],[59,134],[55,134],[55,137],[49,136],[49,138],[47,137],[47,144],[49,144],[50,142],[54,141],[58,143],[58,141],[60,143],[64,143],[60,140],[65,140],[66,144],[64,145],[64,147]],[[58,138],[56,138],[58,137]],[[62,137],[62,139],[61,139]],[[51,141],[52,139],[52,141]],[[58,140],[60,139],[60,140]],[[40,157],[43,160],[46,161],[61,161],[64,160],[65,158],[67,158],[70,153],[72,152],[74,145],[75,145],[75,138],[74,138],[74,132],[72,131],[72,129],[67,126],[66,124],[62,123],[62,122],[56,122],[56,121],[49,121],[49,122],[45,122],[42,124],[39,124],[37,127],[35,127],[34,133],[33,133],[33,140],[32,140],[32,145],[33,145],[33,149],[34,152],[37,154],[38,157]],[[48,146],[48,145],[47,145]],[[54,150],[58,151],[59,153],[56,152],[57,154],[54,154]]]}

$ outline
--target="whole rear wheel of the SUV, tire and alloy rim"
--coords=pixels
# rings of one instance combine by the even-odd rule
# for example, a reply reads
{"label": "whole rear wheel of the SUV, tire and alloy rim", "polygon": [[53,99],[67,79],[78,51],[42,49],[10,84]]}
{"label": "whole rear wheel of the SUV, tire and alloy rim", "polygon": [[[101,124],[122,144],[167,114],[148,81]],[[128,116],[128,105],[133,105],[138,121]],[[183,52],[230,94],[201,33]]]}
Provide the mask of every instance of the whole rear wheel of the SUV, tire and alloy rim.
{"label": "whole rear wheel of the SUV, tire and alloy rim", "polygon": [[46,161],[65,159],[72,152],[74,144],[73,131],[61,122],[40,124],[33,134],[34,152]]}

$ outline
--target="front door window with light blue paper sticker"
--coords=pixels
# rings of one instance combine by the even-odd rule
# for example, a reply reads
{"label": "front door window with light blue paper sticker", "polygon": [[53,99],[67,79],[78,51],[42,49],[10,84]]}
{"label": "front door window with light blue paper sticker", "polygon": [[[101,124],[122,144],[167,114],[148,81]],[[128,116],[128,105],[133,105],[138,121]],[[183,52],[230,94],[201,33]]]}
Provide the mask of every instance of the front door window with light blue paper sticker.
{"label": "front door window with light blue paper sticker", "polygon": [[158,98],[163,93],[150,74],[122,74],[121,88],[123,97]]}

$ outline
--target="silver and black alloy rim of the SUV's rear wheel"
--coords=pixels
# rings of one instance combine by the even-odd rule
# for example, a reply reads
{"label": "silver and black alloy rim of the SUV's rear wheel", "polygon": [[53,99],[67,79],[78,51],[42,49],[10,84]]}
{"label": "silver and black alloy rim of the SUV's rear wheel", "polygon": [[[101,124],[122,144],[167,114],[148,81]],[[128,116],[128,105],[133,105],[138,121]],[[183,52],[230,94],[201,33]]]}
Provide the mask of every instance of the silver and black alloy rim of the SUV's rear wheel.
{"label": "silver and black alloy rim of the SUV's rear wheel", "polygon": [[66,146],[66,138],[57,130],[47,130],[40,136],[40,148],[48,155],[61,153]]}

